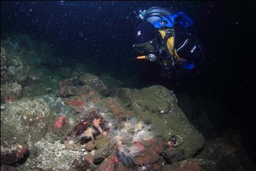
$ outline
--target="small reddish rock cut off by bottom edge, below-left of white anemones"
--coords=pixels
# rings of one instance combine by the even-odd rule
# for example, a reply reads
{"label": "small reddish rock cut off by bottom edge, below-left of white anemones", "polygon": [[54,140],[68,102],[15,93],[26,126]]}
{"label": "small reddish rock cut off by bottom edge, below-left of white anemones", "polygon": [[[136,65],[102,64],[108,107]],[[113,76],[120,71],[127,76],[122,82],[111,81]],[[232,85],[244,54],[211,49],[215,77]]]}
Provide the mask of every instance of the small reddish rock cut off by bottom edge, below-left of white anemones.
{"label": "small reddish rock cut off by bottom edge, below-left of white anemones", "polygon": [[119,160],[116,155],[110,155],[99,166],[99,171],[116,171],[118,170]]}

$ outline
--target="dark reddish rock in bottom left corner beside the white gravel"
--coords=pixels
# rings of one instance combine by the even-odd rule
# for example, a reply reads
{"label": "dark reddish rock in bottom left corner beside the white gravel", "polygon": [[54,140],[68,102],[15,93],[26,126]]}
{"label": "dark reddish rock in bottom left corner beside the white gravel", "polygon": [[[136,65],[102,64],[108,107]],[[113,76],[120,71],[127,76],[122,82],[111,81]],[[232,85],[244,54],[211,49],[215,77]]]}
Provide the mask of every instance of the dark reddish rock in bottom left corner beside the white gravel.
{"label": "dark reddish rock in bottom left corner beside the white gravel", "polygon": [[28,150],[27,144],[16,143],[12,145],[1,144],[1,165],[9,165],[23,158]]}

